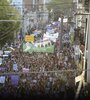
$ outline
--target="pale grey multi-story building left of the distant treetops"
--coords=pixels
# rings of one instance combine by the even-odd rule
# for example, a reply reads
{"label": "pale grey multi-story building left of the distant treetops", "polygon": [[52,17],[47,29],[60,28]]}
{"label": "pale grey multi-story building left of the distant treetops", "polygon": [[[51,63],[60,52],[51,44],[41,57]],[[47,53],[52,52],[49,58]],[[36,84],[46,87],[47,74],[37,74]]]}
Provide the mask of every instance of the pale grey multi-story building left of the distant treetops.
{"label": "pale grey multi-story building left of the distant treetops", "polygon": [[[32,26],[44,25],[48,21],[46,0],[23,0],[24,32],[27,33]],[[33,21],[32,21],[33,20]],[[41,25],[41,26],[42,26]]]}

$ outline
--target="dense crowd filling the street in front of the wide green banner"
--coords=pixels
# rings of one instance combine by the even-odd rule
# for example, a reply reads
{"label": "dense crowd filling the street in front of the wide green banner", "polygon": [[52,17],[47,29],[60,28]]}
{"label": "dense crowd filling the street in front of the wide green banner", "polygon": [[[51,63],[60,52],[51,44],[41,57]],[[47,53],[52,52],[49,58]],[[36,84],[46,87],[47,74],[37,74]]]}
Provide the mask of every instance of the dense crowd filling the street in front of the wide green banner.
{"label": "dense crowd filling the street in front of the wide green banner", "polygon": [[[57,42],[55,45],[58,46]],[[77,62],[80,61],[75,45],[63,43],[60,53],[29,53],[18,46],[0,65],[0,97],[74,99]]]}

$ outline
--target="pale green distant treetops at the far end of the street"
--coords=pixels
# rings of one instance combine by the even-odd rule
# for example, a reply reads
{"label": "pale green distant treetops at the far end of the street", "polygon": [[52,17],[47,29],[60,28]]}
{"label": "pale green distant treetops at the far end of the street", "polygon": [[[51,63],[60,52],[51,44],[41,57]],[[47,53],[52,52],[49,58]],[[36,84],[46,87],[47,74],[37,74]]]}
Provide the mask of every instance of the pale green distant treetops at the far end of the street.
{"label": "pale green distant treetops at the far end of the street", "polygon": [[69,15],[72,8],[73,0],[51,0],[47,8],[49,11],[53,10],[54,20],[60,17],[60,14]]}

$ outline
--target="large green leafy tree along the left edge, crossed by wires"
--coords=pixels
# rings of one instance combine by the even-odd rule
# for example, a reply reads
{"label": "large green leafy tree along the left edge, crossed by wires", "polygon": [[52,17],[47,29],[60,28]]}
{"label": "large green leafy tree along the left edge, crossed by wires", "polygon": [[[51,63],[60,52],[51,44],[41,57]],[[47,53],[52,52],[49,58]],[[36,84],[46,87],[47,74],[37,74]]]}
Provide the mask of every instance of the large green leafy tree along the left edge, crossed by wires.
{"label": "large green leafy tree along the left edge, crossed by wires", "polygon": [[9,0],[0,0],[0,46],[14,40],[14,33],[20,29],[20,12],[11,6]]}

